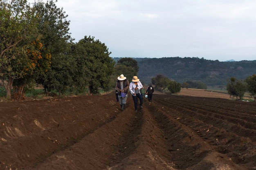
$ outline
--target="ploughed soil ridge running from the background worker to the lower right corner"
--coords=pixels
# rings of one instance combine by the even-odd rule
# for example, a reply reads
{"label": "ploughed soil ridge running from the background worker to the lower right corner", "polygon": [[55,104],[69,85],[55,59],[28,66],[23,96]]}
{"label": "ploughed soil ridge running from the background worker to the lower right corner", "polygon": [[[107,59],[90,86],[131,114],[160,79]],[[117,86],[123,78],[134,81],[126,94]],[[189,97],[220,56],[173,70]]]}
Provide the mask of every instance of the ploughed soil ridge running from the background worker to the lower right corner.
{"label": "ploughed soil ridge running from the background worker to the lower right corner", "polygon": [[[256,167],[256,163],[254,163],[256,143],[249,139],[249,137],[254,139],[255,135],[248,133],[247,129],[243,127],[238,129],[233,124],[221,119],[215,119],[215,122],[214,118],[209,115],[202,115],[195,111],[184,109],[187,108],[185,103],[180,106],[173,101],[166,103],[162,102],[162,99],[156,99],[156,105],[185,126],[191,128],[196,135],[211,145],[216,152],[227,155],[228,159],[236,164],[242,164],[248,169]],[[218,113],[218,110],[216,112]]]}

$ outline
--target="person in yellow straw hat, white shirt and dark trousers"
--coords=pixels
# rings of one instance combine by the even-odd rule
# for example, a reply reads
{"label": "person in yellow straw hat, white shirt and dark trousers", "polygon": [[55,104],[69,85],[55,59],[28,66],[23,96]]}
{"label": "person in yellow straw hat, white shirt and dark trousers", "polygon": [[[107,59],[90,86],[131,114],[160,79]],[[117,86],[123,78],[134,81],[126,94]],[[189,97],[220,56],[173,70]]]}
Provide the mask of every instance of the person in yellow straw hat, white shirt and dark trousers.
{"label": "person in yellow straw hat, white shirt and dark trousers", "polygon": [[134,102],[135,112],[137,112],[138,98],[139,98],[139,106],[143,108],[143,97],[139,91],[139,89],[144,88],[139,81],[138,77],[135,75],[132,77],[132,82],[130,83],[130,93],[132,94],[132,99]]}

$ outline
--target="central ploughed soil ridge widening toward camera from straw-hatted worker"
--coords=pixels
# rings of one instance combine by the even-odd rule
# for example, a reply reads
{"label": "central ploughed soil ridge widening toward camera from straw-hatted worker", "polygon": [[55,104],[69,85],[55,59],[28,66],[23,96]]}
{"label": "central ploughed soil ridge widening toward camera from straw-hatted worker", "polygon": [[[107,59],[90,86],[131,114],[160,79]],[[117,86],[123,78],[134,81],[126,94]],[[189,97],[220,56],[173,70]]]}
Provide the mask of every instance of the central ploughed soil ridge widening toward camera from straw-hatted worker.
{"label": "central ploughed soil ridge widening toward camera from straw-hatted worker", "polygon": [[140,119],[136,122],[141,126],[140,133],[137,133],[136,139],[132,141],[130,135],[126,134],[127,138],[124,139],[124,142],[136,146],[136,149],[130,155],[126,155],[126,151],[121,150],[116,155],[119,157],[116,161],[117,164],[108,167],[108,170],[175,170],[165,143],[165,136],[162,129],[157,126],[151,111],[144,106],[138,113],[135,113],[136,119]]}

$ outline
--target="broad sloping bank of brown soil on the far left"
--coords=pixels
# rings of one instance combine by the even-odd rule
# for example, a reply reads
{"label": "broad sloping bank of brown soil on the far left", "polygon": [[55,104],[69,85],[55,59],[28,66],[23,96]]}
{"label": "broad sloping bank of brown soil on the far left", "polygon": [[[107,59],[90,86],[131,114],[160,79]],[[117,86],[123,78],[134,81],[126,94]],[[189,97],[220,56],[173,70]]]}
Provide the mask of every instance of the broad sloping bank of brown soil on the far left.
{"label": "broad sloping bank of brown soil on the far left", "polygon": [[[59,113],[55,108],[58,102],[46,102],[47,106],[42,106],[44,111],[35,109],[36,102],[24,102],[26,108],[35,109],[32,112],[33,114],[26,115],[25,108],[20,107],[21,110],[25,110],[23,113],[17,113],[16,111],[16,113],[13,113],[15,116],[8,117],[8,115],[6,119],[2,119],[4,123],[0,127],[0,139],[2,139],[0,141],[0,152],[5,157],[1,159],[0,167],[8,169],[35,166],[52,154],[65,150],[84,136],[112,121],[118,112],[115,102],[106,102],[105,105],[108,105],[108,109],[112,112],[106,111],[105,114],[105,108],[102,108],[105,107],[104,105],[84,104],[84,109],[81,109],[83,108],[81,103],[76,104],[76,99],[71,100],[74,102],[73,104],[69,101],[63,102],[66,103],[65,109]],[[16,107],[15,104],[13,106]],[[49,112],[51,110],[54,110],[54,112]],[[101,114],[95,113],[97,110]],[[117,112],[115,112],[116,110]],[[47,114],[48,112],[49,114]],[[20,124],[13,123],[17,117],[19,117]],[[37,141],[40,141],[40,143]],[[13,155],[15,150],[20,150],[20,152]]]}

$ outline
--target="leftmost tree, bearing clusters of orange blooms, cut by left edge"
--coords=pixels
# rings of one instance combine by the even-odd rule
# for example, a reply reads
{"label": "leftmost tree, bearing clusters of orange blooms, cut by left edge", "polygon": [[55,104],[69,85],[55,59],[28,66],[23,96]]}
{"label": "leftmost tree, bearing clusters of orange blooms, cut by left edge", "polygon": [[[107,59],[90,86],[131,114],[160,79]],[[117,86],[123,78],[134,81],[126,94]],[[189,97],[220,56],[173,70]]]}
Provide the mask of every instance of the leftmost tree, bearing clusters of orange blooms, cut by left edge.
{"label": "leftmost tree, bearing clusters of orange blooms, cut by left edge", "polygon": [[7,98],[11,97],[13,80],[40,69],[38,61],[45,57],[37,21],[27,0],[0,1],[0,78]]}

